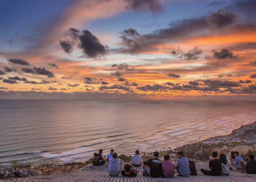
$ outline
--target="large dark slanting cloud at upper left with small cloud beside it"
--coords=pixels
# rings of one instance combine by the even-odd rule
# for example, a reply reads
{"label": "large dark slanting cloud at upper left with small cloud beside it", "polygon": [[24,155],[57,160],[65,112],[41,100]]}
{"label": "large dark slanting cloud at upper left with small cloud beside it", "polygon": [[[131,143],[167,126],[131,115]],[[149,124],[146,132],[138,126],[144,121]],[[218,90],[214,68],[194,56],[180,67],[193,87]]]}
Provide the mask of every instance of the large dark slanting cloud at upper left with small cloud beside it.
{"label": "large dark slanting cloud at upper left with small cloud beside it", "polygon": [[[69,28],[68,31],[65,32],[65,35],[71,36],[73,41],[77,43],[78,48],[82,49],[84,54],[89,56],[89,58],[103,56],[109,51],[108,46],[104,46],[99,39],[87,29],[79,31],[75,28]],[[60,43],[61,42],[64,44],[64,51],[70,53],[72,50],[70,49],[71,43],[67,42],[67,40],[60,40]]]}

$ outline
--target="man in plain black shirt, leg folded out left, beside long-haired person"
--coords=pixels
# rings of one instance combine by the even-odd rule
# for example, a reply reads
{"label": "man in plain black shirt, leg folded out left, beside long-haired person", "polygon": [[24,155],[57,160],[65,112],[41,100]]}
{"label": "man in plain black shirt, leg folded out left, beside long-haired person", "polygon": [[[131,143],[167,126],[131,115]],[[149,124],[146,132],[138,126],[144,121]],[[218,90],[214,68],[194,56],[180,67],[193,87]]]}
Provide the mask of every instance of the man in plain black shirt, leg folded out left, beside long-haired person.
{"label": "man in plain black shirt, leg folded out left, beside long-haired person", "polygon": [[212,152],[212,160],[209,162],[209,169],[201,169],[201,172],[204,173],[205,175],[210,175],[210,176],[221,176],[222,172],[222,166],[221,166],[221,161],[217,159],[218,153],[217,152]]}

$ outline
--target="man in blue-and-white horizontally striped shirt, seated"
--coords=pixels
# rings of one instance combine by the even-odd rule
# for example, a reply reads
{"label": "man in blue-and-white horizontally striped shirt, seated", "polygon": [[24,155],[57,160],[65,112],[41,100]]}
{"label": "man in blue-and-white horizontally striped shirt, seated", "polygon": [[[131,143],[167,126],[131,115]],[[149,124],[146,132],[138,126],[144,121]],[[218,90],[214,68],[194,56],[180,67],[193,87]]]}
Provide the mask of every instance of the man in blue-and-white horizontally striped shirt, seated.
{"label": "man in blue-and-white horizontally striped shirt, seated", "polygon": [[178,176],[188,176],[190,171],[189,171],[189,162],[188,158],[183,157],[183,153],[177,152],[178,154],[178,160],[176,162],[176,170],[178,171]]}

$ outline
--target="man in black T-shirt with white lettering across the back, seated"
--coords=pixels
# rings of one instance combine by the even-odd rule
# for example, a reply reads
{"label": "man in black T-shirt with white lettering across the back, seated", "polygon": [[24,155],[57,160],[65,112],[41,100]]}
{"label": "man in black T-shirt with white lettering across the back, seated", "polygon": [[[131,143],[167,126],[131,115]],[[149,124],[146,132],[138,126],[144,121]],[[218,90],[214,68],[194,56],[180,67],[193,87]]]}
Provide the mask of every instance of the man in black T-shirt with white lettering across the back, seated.
{"label": "man in black T-shirt with white lettering across the back, seated", "polygon": [[162,174],[162,161],[158,159],[159,153],[155,151],[153,154],[153,159],[143,163],[143,176],[151,177],[161,177]]}

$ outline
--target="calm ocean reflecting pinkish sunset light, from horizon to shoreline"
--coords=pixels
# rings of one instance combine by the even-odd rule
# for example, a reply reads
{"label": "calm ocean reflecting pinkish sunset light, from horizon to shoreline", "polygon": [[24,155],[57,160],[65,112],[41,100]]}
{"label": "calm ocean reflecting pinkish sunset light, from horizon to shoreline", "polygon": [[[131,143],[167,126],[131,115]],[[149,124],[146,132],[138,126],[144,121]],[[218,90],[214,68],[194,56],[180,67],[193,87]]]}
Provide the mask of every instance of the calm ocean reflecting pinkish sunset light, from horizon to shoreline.
{"label": "calm ocean reflecting pinkish sunset light, from horizon to shoreline", "polygon": [[0,100],[0,163],[174,149],[253,123],[255,108],[230,100]]}

